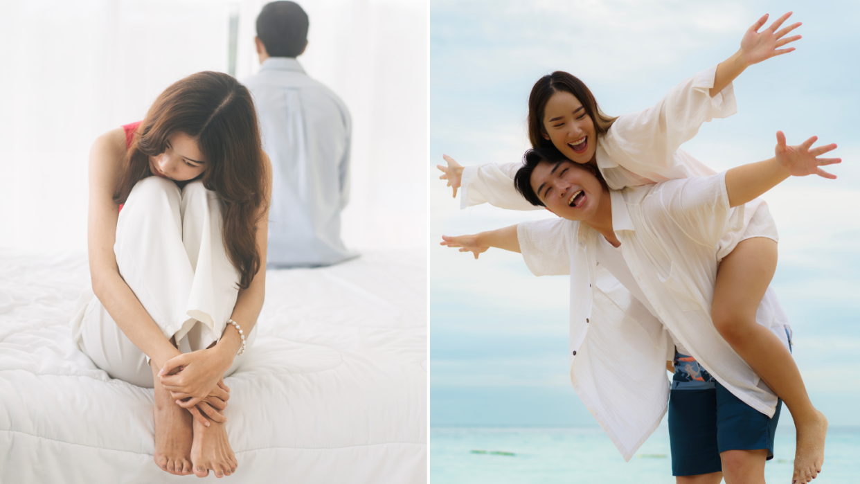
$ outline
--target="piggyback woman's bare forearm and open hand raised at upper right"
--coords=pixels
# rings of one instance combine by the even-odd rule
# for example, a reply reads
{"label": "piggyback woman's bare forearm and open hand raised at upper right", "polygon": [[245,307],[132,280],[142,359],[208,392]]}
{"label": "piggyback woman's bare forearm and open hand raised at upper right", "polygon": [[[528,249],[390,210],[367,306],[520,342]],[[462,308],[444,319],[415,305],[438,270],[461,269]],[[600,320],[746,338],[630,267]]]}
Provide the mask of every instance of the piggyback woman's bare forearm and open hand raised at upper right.
{"label": "piggyback woman's bare forearm and open hand raised at upper right", "polygon": [[777,32],[777,28],[780,28],[789,16],[791,16],[791,12],[779,17],[777,21],[771,23],[770,27],[759,32],[759,28],[762,28],[765,25],[765,21],[767,21],[767,14],[765,14],[752,27],[746,30],[744,38],[740,40],[740,49],[738,52],[734,52],[732,57],[727,58],[716,66],[714,87],[710,89],[711,97],[720,94],[722,89],[725,89],[728,84],[732,83],[750,65],[759,64],[763,60],[795,50],[794,47],[780,47],[801,38],[800,35],[785,37],[792,30],[800,27],[801,22],[798,21]]}

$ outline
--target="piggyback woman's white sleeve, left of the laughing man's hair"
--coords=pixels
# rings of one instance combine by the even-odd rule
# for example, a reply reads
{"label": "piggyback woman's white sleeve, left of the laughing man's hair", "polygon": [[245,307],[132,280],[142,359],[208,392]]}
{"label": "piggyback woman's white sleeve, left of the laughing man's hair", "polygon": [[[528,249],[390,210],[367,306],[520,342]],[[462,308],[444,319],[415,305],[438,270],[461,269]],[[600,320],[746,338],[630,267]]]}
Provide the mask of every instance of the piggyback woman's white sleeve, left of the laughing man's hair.
{"label": "piggyback woman's white sleeve, left of the laughing man's hair", "polygon": [[460,208],[488,203],[508,210],[537,210],[513,187],[513,177],[522,163],[484,164],[463,169],[460,178]]}

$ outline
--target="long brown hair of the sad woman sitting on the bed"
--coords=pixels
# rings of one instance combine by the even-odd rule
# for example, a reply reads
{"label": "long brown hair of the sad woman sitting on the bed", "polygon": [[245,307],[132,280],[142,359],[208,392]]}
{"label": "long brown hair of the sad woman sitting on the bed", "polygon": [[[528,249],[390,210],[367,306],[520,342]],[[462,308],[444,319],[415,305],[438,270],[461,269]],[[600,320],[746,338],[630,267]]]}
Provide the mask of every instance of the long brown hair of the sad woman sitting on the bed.
{"label": "long brown hair of the sad woman sitting on the bed", "polygon": [[267,166],[254,101],[242,84],[222,72],[198,72],[173,83],[152,103],[126,150],[114,202],[152,175],[150,156],[167,148],[175,132],[194,138],[206,156],[203,186],[218,193],[224,248],[247,289],[260,270],[256,224],[267,204]]}

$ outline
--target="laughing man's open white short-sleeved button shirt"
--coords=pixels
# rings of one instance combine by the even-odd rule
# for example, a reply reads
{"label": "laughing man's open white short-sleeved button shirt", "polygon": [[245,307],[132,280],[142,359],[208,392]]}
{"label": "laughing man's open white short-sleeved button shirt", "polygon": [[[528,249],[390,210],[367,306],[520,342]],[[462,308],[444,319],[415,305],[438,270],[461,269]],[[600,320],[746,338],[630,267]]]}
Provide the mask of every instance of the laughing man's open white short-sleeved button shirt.
{"label": "laughing man's open white short-sleeved button shirt", "polygon": [[[519,224],[517,236],[532,273],[570,275],[571,382],[624,459],[667,410],[665,365],[674,348],[667,329],[733,395],[772,417],[777,396],[710,319],[716,242],[744,224],[744,207],[729,208],[725,173],[610,197],[624,260],[659,319],[597,265],[599,234],[587,225],[551,218]],[[788,347],[789,324],[770,288],[756,319]]]}

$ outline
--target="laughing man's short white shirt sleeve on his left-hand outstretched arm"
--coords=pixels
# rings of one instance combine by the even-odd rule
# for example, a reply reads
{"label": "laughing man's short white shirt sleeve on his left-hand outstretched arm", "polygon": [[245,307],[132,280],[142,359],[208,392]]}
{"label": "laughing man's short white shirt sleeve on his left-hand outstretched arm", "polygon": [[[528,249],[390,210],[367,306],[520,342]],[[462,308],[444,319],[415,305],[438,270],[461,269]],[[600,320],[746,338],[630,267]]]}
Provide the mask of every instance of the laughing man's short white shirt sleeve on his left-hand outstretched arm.
{"label": "laughing man's short white shirt sleeve on his left-hand outstretched arm", "polygon": [[570,273],[571,224],[564,218],[548,218],[517,225],[519,251],[536,276]]}

